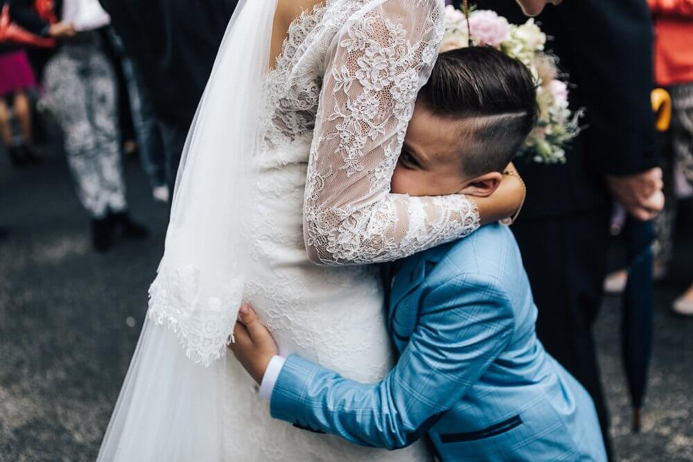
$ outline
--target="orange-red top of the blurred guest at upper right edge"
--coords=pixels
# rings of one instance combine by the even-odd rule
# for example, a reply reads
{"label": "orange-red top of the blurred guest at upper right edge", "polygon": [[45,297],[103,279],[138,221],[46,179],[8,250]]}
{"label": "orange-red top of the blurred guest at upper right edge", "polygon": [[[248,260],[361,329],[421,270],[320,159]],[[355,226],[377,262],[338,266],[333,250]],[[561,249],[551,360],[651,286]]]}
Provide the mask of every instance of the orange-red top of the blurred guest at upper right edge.
{"label": "orange-red top of the blurred guest at upper right edge", "polygon": [[657,85],[693,82],[693,0],[648,0],[656,27]]}

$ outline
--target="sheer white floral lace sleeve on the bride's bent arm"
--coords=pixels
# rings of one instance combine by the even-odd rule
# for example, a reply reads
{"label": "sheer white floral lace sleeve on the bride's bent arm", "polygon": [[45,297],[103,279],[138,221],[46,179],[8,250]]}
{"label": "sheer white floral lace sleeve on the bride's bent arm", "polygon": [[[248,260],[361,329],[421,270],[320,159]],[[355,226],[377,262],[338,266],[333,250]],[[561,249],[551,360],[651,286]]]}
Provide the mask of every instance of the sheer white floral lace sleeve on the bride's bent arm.
{"label": "sheer white floral lace sleeve on the bride's bent arm", "polygon": [[342,28],[324,75],[310,150],[304,239],[322,265],[379,263],[479,226],[462,195],[389,193],[416,95],[444,31],[442,0],[385,0]]}

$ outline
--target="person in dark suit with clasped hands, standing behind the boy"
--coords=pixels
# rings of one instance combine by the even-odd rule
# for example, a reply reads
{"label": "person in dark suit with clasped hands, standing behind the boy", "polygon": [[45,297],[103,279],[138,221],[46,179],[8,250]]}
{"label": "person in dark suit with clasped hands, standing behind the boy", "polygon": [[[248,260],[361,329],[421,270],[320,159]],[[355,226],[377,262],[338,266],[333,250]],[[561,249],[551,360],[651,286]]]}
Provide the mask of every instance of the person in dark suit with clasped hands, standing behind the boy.
{"label": "person in dark suit with clasped hands, standing behind the boy", "polygon": [[[507,0],[478,0],[516,24],[526,18]],[[649,94],[652,23],[645,0],[564,1],[537,18],[549,48],[570,74],[572,109],[586,129],[565,164],[518,161],[527,202],[514,232],[539,309],[546,350],[590,392],[608,444],[608,412],[593,339],[606,273],[613,199],[640,220],[663,206]]]}

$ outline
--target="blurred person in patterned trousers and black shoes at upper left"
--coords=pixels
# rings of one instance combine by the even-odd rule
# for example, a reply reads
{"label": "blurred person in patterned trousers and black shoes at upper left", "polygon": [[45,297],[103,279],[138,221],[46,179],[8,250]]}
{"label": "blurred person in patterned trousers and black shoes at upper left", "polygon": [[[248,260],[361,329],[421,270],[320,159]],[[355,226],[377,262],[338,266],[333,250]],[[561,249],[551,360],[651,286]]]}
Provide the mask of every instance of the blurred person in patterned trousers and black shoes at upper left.
{"label": "blurred person in patterned trousers and black shoes at upper left", "polygon": [[55,1],[55,22],[37,15],[33,0],[12,0],[10,6],[24,26],[60,40],[46,63],[44,86],[64,133],[78,197],[91,215],[94,249],[112,247],[116,234],[143,238],[147,231],[131,220],[125,199],[116,81],[103,51],[109,16],[97,0]]}

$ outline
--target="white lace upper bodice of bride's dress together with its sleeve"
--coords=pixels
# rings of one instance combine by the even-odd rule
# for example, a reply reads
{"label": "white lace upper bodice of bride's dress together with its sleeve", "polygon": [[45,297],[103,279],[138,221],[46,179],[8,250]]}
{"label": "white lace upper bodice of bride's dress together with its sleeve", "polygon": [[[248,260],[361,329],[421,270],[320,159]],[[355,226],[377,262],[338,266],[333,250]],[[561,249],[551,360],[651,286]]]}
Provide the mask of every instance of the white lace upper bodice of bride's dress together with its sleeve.
{"label": "white lace upper bodice of bride's dress together with its sleeve", "polygon": [[313,263],[391,261],[477,228],[462,195],[389,192],[443,33],[442,0],[326,0],[291,24],[265,78],[261,163],[308,162],[302,213]]}

